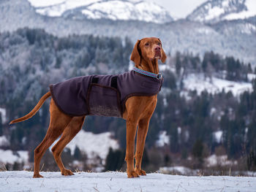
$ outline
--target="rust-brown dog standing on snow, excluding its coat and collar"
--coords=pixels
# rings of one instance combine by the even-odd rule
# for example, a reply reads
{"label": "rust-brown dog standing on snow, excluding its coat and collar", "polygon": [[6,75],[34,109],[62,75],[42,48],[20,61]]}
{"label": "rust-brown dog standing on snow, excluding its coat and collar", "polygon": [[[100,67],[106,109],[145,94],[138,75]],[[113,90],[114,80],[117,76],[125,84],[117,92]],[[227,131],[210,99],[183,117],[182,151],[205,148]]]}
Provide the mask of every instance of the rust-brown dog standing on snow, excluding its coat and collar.
{"label": "rust-brown dog standing on snow, excluding its coat and collar", "polygon": [[[134,49],[132,50],[131,60],[135,62],[135,66],[139,69],[143,69],[147,72],[154,74],[159,73],[158,59],[165,62],[166,55],[162,50],[162,43],[160,39],[151,37],[138,40]],[[12,123],[18,123],[23,120],[31,118],[48,97],[50,92],[46,93],[39,100],[29,114],[23,118],[12,120]],[[141,169],[141,161],[143,156],[143,150],[145,145],[146,134],[148,132],[148,123],[157,105],[157,95],[154,96],[132,96],[127,99],[125,103],[125,109],[123,118],[127,120],[127,174],[128,177],[139,177],[139,175],[146,175],[146,172]],[[58,164],[61,174],[72,175],[73,173],[65,169],[61,161],[61,153],[64,147],[75,137],[80,131],[85,120],[85,116],[75,116],[64,114],[56,106],[56,103],[51,99],[50,101],[50,125],[45,138],[34,150],[34,177],[42,177],[39,174],[39,164],[42,155],[48,150],[48,147],[61,136],[61,139],[53,146],[53,156],[56,164]],[[137,145],[135,153],[135,134],[138,126]],[[62,134],[62,135],[61,135]],[[134,153],[136,164],[134,167]]]}

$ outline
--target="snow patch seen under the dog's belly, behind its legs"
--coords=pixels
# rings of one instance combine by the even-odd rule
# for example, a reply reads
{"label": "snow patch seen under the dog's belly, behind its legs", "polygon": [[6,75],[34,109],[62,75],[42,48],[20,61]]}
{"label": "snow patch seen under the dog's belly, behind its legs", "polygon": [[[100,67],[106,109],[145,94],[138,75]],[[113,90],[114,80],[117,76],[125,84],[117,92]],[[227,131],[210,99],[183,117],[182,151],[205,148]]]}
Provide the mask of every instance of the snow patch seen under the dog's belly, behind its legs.
{"label": "snow patch seen under the dog's belly, behind its legs", "polygon": [[[58,140],[56,140],[56,142],[58,142]],[[55,145],[56,142],[54,142],[53,145]],[[53,145],[51,147],[53,147]],[[71,154],[74,154],[75,146],[78,146],[81,151],[86,152],[89,158],[94,158],[96,155],[99,155],[102,159],[107,157],[110,147],[112,147],[113,150],[119,147],[117,140],[111,139],[110,132],[93,134],[84,130],[81,130],[67,145],[71,150]]]}

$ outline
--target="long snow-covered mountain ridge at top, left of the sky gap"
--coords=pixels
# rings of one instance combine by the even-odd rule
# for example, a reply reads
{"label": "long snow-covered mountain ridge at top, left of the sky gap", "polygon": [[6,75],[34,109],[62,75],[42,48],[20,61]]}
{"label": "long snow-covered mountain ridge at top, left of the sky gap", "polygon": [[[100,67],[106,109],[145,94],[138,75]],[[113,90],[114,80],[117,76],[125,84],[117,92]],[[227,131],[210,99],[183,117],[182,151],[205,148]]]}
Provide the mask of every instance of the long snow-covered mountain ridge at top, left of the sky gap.
{"label": "long snow-covered mountain ridge at top, left of the sky gap", "polygon": [[153,2],[136,0],[28,0],[36,12],[50,17],[64,17],[75,20],[110,19],[143,20],[166,23],[173,20],[170,13]]}

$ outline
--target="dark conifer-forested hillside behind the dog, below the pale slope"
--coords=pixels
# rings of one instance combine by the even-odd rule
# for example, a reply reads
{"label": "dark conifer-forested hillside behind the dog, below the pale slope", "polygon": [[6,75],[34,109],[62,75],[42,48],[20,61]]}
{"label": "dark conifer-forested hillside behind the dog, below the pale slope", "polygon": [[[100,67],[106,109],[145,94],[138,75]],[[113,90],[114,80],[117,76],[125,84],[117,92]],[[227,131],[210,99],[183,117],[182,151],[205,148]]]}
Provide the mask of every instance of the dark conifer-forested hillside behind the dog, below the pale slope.
{"label": "dark conifer-forested hillside behind the dog, below the pale slope", "polygon": [[[7,123],[29,112],[52,83],[80,75],[127,72],[134,43],[127,38],[92,35],[59,38],[42,29],[29,28],[1,33],[0,107],[7,111],[7,122],[1,123],[0,118],[0,136],[7,137],[10,145],[0,147],[13,151],[29,150],[29,161],[32,162],[33,150],[48,128],[50,99],[30,120],[11,127]],[[155,171],[159,166],[179,164],[203,169],[206,168],[206,158],[216,154],[227,155],[230,161],[238,162],[233,169],[255,170],[255,69],[251,64],[213,52],[205,53],[203,58],[190,53],[167,55],[167,63],[160,64],[165,82],[146,139],[143,164],[146,169]],[[204,80],[212,83],[218,79],[252,85],[241,94],[225,90],[213,93],[207,88],[197,91],[187,88],[184,83],[191,74],[202,75]],[[100,164],[106,170],[121,169],[126,145],[124,120],[87,117],[83,129],[94,134],[105,131],[113,134],[120,149],[110,150],[106,164]],[[163,135],[166,142],[161,144],[159,138]],[[83,169],[90,169],[86,166],[86,154],[79,148],[75,154],[66,150],[64,155],[69,163],[84,161]],[[45,158],[51,157],[46,154]],[[56,169],[49,162],[47,169],[51,166]],[[9,165],[7,169],[23,167]]]}

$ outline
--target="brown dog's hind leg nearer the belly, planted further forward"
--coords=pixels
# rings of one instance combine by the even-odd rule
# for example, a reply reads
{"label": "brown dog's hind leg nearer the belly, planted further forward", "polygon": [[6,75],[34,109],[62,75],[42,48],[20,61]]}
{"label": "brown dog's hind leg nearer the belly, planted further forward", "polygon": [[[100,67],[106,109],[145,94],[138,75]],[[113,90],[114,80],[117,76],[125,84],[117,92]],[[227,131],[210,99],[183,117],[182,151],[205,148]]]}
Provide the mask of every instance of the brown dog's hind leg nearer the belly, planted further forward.
{"label": "brown dog's hind leg nearer the belly, planted further forward", "polygon": [[65,169],[62,161],[61,161],[61,153],[64,150],[64,147],[75,137],[76,134],[81,130],[83,126],[85,116],[83,117],[74,117],[70,121],[69,125],[64,129],[63,134],[61,135],[61,139],[53,146],[53,156],[58,164],[59,169],[61,169],[62,175],[72,175],[73,173],[69,169]]}

